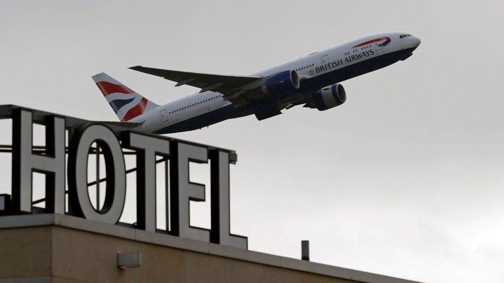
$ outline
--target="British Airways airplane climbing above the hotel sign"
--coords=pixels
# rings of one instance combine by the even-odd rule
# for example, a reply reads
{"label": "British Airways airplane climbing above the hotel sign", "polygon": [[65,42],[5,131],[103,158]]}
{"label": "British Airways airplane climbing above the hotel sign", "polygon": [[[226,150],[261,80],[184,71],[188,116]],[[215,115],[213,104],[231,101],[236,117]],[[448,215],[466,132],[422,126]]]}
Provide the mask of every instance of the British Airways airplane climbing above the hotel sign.
{"label": "British Airways airplane climbing above the hotel sign", "polygon": [[[343,104],[340,82],[409,58],[420,39],[407,33],[367,36],[251,76],[223,76],[134,66],[133,70],[200,92],[158,105],[105,73],[93,76],[122,124],[166,134],[200,129],[254,114],[264,120],[296,105],[324,111]],[[121,123],[121,122],[112,122]]]}

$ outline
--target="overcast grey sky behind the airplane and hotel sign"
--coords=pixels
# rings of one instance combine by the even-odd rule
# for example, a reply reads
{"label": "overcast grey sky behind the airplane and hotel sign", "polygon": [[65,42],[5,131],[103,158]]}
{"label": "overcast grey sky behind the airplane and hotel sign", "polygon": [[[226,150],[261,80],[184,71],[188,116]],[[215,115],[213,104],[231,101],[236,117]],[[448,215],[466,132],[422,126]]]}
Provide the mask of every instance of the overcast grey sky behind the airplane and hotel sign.
{"label": "overcast grey sky behind the airplane and hotel sign", "polygon": [[[249,75],[359,37],[411,33],[422,40],[414,55],[343,82],[347,102],[337,108],[294,107],[171,136],[237,151],[231,229],[251,250],[299,258],[308,239],[316,262],[425,282],[502,282],[503,8],[498,0],[3,2],[0,103],[116,120],[92,75],[164,104],[198,90],[127,67]],[[208,165],[192,168],[208,184]],[[193,225],[208,227],[208,202],[192,207]]]}

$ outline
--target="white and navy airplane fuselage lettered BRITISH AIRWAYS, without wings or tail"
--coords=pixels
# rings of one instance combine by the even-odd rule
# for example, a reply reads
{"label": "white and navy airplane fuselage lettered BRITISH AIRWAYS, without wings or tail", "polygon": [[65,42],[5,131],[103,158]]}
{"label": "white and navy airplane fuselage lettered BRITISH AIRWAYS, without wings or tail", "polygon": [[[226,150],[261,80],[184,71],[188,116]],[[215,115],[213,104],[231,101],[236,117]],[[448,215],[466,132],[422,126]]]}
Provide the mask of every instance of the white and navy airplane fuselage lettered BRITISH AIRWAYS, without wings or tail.
{"label": "white and navy airplane fuselage lettered BRITISH AIRWAYS, without wings or tail", "polygon": [[[420,40],[414,36],[403,38],[403,35],[385,33],[367,36],[254,75],[267,77],[294,69],[301,79],[301,90],[297,95],[292,94],[292,100],[298,99],[304,95],[303,91],[317,91],[407,58],[420,44]],[[373,41],[376,39],[381,41]],[[222,94],[207,91],[159,106],[131,121],[143,122],[143,131],[169,133],[201,128],[228,118],[251,114],[233,113],[232,108],[232,103],[223,100]]]}

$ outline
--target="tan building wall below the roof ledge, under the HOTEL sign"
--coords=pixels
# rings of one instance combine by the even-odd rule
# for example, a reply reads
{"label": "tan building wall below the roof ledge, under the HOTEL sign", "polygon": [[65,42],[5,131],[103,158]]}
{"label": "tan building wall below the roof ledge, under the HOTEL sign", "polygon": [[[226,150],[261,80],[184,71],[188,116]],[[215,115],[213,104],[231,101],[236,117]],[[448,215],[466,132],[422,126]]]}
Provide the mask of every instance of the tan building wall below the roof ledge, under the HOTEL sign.
{"label": "tan building wall below the roof ledge, under the HOTEL sign", "polygon": [[[142,253],[120,269],[117,253]],[[9,279],[7,279],[9,278]],[[356,282],[60,226],[0,230],[0,282]]]}

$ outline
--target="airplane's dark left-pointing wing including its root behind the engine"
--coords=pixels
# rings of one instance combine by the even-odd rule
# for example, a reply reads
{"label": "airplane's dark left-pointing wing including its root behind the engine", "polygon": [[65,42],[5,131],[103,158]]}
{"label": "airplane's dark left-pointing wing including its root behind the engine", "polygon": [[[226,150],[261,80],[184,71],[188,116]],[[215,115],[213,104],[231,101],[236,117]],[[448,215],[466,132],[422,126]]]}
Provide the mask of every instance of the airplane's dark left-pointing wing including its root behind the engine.
{"label": "airplane's dark left-pointing wing including its root behind the engine", "polygon": [[130,69],[176,82],[177,84],[175,87],[189,85],[200,88],[200,93],[206,91],[220,92],[224,94],[223,98],[225,100],[229,100],[230,102],[238,105],[245,104],[250,100],[265,97],[265,95],[258,96],[258,93],[247,94],[250,90],[243,89],[244,86],[261,81],[263,77],[260,76],[223,76],[180,72],[176,70],[165,70],[143,66],[134,66],[130,67]]}

